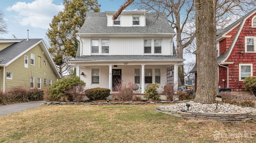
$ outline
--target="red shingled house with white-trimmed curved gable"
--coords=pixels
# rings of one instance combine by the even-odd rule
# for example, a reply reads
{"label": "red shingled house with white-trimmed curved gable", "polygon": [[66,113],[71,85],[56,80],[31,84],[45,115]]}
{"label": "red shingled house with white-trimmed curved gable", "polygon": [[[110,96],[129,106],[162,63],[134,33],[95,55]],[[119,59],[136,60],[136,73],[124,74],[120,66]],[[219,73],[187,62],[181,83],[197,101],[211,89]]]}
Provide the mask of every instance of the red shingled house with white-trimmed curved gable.
{"label": "red shingled house with white-trimmed curved gable", "polygon": [[[256,9],[228,27],[217,29],[216,47],[218,86],[224,91],[244,91],[244,78],[256,75]],[[197,78],[196,66],[190,72]]]}

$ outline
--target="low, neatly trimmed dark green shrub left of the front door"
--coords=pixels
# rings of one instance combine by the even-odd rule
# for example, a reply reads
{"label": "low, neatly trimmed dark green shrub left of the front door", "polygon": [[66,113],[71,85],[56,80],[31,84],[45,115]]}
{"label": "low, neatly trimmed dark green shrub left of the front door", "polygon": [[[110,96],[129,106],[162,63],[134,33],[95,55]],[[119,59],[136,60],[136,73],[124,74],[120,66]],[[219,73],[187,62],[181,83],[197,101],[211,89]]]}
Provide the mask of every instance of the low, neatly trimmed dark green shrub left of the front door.
{"label": "low, neatly trimmed dark green shrub left of the front door", "polygon": [[86,90],[86,96],[90,100],[106,100],[110,94],[110,89],[108,88],[91,88]]}

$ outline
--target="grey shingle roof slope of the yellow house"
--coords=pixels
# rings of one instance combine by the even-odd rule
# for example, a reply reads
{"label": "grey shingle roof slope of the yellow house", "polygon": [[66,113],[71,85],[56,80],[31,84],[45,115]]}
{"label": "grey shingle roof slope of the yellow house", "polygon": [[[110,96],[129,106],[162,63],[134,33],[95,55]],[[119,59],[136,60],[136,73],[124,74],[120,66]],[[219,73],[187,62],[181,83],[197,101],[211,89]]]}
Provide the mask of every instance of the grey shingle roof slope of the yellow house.
{"label": "grey shingle roof slope of the yellow house", "polygon": [[23,39],[20,42],[14,43],[6,47],[5,49],[0,51],[0,64],[8,63],[9,61],[17,57],[20,53],[26,51],[26,49],[30,48],[32,45],[40,40],[42,39],[29,39],[28,41],[26,39]]}

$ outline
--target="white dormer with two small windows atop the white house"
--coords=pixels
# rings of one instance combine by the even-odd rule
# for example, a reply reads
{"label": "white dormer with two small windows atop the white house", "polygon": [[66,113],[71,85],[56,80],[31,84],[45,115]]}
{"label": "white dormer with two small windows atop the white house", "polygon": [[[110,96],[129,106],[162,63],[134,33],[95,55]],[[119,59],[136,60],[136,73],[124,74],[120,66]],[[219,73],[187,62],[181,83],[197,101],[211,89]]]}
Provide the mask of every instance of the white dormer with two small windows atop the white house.
{"label": "white dormer with two small windows atop the white house", "polygon": [[133,26],[146,26],[146,14],[148,12],[122,12],[116,20],[112,20],[113,14],[116,12],[105,12],[108,18],[108,26],[121,26],[121,27],[133,27]]}

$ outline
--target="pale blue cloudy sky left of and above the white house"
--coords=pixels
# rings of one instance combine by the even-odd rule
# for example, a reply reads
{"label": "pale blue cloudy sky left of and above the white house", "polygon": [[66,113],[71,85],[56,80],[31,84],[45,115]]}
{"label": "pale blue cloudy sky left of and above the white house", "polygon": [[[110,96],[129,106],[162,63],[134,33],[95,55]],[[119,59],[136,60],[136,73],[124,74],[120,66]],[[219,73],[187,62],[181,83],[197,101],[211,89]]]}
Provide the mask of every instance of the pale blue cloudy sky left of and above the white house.
{"label": "pale blue cloudy sky left of and above the white house", "polygon": [[[126,0],[98,0],[100,12],[117,11],[124,2]],[[0,35],[0,39],[14,39],[14,36],[47,39],[47,28],[53,16],[63,10],[62,3],[63,0],[0,0],[0,10],[8,26],[8,33]]]}

